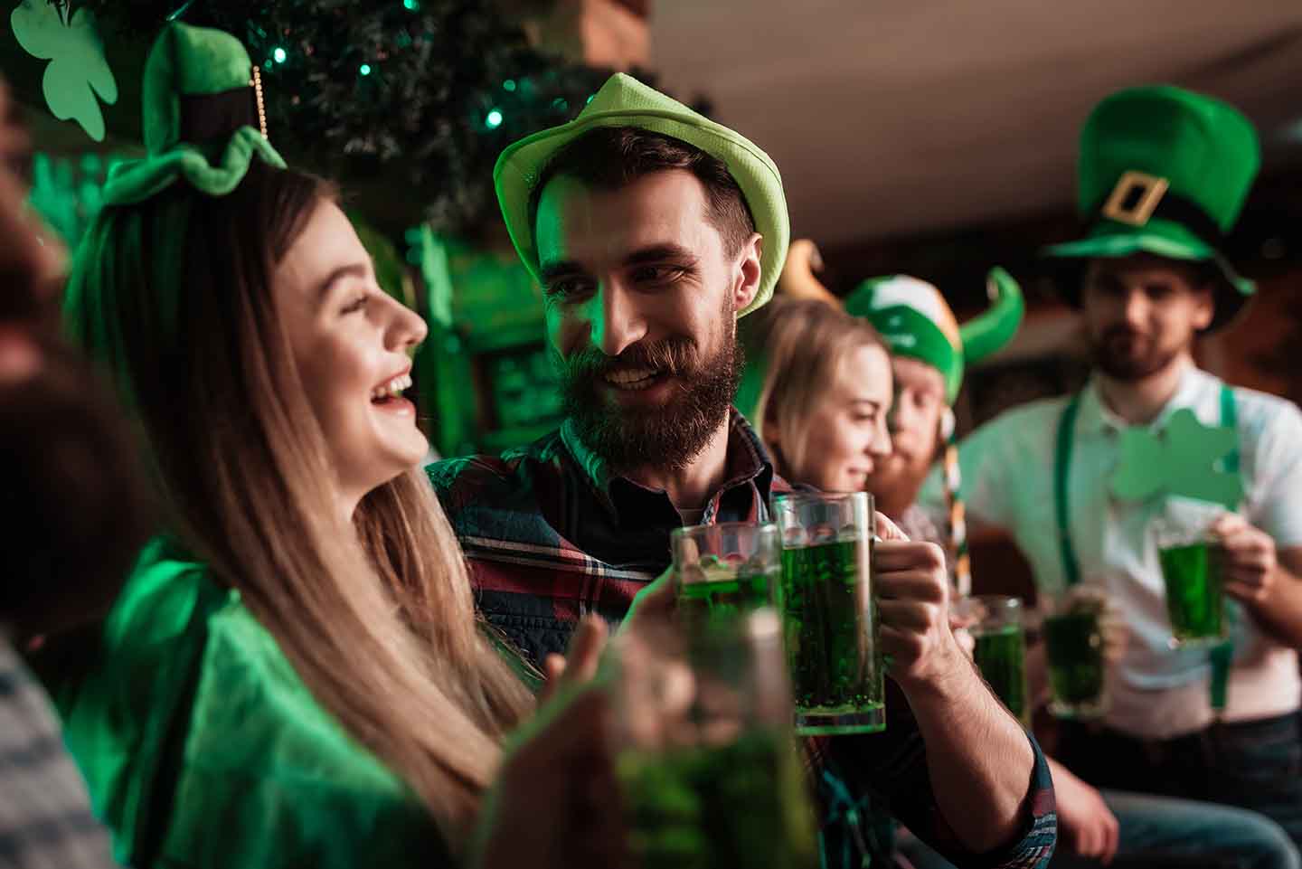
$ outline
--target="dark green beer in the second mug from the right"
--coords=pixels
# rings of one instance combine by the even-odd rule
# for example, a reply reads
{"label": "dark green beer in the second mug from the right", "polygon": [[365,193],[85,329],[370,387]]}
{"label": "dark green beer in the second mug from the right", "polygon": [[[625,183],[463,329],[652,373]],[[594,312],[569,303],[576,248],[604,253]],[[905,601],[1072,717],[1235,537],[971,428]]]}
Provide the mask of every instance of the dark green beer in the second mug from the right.
{"label": "dark green beer in the second mug from the right", "polygon": [[1044,619],[1051,709],[1061,718],[1092,718],[1103,711],[1104,661],[1099,614],[1069,610]]}

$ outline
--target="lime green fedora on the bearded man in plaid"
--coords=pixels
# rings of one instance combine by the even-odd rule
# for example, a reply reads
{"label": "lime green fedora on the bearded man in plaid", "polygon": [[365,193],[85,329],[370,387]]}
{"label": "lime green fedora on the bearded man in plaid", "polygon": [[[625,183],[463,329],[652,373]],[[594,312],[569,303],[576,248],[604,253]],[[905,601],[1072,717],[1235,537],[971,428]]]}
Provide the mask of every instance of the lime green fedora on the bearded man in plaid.
{"label": "lime green fedora on the bearded man in plaid", "polygon": [[764,237],[759,292],[738,317],[764,305],[773,294],[790,242],[786,197],[777,165],[746,137],[624,73],[611,76],[573,121],[522,138],[497,158],[492,177],[501,216],[534,280],[542,283],[534,220],[529,212],[534,188],[557,151],[599,126],[635,126],[660,133],[698,147],[728,167],[746,198],[755,231]]}

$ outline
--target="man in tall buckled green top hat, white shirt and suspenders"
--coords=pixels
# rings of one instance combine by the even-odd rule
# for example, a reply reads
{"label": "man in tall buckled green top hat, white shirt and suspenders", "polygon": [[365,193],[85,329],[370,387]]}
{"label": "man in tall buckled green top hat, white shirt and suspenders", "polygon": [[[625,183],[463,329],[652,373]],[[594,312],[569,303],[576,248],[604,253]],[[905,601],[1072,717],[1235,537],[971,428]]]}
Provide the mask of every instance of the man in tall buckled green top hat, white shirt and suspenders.
{"label": "man in tall buckled green top hat, white shirt and suspenders", "polygon": [[[970,515],[1012,532],[1042,597],[1096,585],[1125,612],[1111,707],[1064,726],[1065,765],[1098,787],[1255,809],[1299,840],[1302,413],[1193,360],[1254,292],[1221,240],[1258,165],[1251,124],[1219,100],[1138,87],[1095,108],[1088,235],[1046,251],[1094,375],[978,429],[961,468]],[[1199,517],[1215,517],[1224,577],[1211,651],[1174,648],[1156,539],[1160,520]]]}

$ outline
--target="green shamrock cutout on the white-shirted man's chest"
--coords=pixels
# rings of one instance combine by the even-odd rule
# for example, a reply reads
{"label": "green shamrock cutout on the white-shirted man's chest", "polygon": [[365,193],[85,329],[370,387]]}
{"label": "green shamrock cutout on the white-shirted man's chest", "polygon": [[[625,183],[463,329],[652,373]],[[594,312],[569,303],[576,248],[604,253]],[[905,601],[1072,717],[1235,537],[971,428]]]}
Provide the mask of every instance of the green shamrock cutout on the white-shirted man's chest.
{"label": "green shamrock cutout on the white-shirted man's chest", "polygon": [[1126,429],[1112,494],[1122,500],[1181,495],[1233,509],[1243,498],[1243,479],[1220,470],[1217,463],[1237,446],[1234,429],[1204,426],[1189,408],[1170,414],[1156,434],[1141,426]]}

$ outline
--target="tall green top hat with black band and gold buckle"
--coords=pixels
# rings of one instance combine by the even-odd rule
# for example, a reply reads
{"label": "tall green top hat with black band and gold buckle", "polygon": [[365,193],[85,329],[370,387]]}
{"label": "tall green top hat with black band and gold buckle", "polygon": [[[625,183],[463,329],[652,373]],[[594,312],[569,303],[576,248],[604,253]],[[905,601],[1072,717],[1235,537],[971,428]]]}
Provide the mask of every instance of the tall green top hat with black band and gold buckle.
{"label": "tall green top hat with black band and gold buckle", "polygon": [[[1078,199],[1088,235],[1046,248],[1059,259],[1152,254],[1216,267],[1216,318],[1226,326],[1255,291],[1225,259],[1260,168],[1256,132],[1238,109],[1172,86],[1131,87],[1104,99],[1081,133]],[[1079,275],[1060,281],[1079,304]]]}

